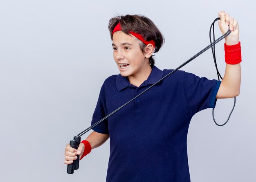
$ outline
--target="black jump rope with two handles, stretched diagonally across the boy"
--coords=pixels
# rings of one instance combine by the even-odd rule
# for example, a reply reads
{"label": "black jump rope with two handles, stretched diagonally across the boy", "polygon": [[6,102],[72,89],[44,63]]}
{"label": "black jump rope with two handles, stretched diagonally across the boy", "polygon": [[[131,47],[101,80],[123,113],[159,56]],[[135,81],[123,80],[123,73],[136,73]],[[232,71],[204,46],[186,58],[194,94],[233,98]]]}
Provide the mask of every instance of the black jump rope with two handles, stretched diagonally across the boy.
{"label": "black jump rope with two handles, stretched diagonally across the boy", "polygon": [[[99,123],[101,123],[102,121],[104,121],[106,118],[108,118],[109,116],[111,116],[112,114],[114,114],[115,112],[117,112],[118,110],[120,110],[121,108],[123,108],[124,106],[126,106],[128,103],[130,103],[131,101],[135,100],[137,97],[141,96],[142,94],[144,94],[146,91],[148,91],[150,88],[152,88],[153,86],[155,86],[157,83],[161,82],[162,80],[164,80],[166,77],[172,75],[174,72],[176,72],[177,70],[179,70],[180,68],[182,68],[183,66],[185,66],[186,64],[188,64],[190,61],[192,61],[193,59],[195,59],[196,57],[198,57],[199,55],[201,55],[202,53],[204,53],[206,50],[208,50],[209,48],[211,48],[212,54],[213,54],[213,60],[214,60],[214,64],[216,67],[216,72],[217,72],[217,76],[218,76],[218,81],[220,81],[220,79],[222,79],[220,72],[218,70],[218,66],[217,66],[217,62],[216,62],[216,54],[215,54],[215,44],[217,44],[218,42],[220,42],[222,39],[224,39],[225,37],[227,37],[231,31],[228,30],[224,35],[222,35],[221,37],[219,37],[218,39],[215,40],[215,34],[214,34],[214,23],[216,21],[220,20],[220,18],[216,18],[213,23],[211,24],[210,27],[210,43],[209,46],[205,47],[203,50],[201,50],[199,53],[197,53],[196,55],[194,55],[193,57],[191,57],[189,60],[187,60],[186,62],[184,62],[182,65],[180,65],[179,67],[177,67],[175,70],[173,70],[172,72],[170,72],[168,75],[164,76],[162,79],[159,79],[156,83],[154,83],[152,86],[148,87],[146,90],[144,90],[143,92],[141,92],[140,94],[138,94],[137,96],[135,96],[133,99],[131,99],[130,101],[128,101],[127,103],[125,103],[124,105],[122,105],[121,107],[117,108],[115,111],[111,112],[110,114],[108,114],[107,116],[105,116],[104,118],[102,118],[100,121],[98,121],[97,123],[95,123],[94,125],[91,125],[90,127],[88,127],[87,129],[85,129],[83,132],[79,133],[77,136],[74,136],[73,140],[70,140],[70,146],[72,148],[77,149],[79,147],[79,144],[81,142],[81,136],[84,135],[85,133],[87,133],[88,131],[90,131],[93,127],[97,126]],[[213,31],[213,42],[211,41],[211,29]],[[216,123],[215,118],[214,118],[214,108],[212,111],[212,115],[213,115],[213,121],[214,123],[216,123],[216,125],[218,126],[223,126],[225,125],[228,121],[229,118],[234,110],[234,107],[236,105],[236,97],[234,97],[234,106],[229,114],[229,117],[227,118],[227,121],[222,124],[219,125],[218,123]],[[72,164],[67,164],[67,173],[68,174],[73,174],[74,170],[79,169],[79,155],[77,155],[77,159],[74,160],[74,162]]]}

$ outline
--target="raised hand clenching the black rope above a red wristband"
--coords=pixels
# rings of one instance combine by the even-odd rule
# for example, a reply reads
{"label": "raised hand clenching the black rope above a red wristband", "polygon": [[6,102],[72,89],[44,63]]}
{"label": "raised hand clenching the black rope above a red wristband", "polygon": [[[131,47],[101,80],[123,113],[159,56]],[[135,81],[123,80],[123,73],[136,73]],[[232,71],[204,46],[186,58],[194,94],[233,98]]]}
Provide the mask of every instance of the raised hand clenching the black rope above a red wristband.
{"label": "raised hand clenching the black rope above a red wristband", "polygon": [[239,25],[237,20],[234,20],[234,18],[232,17],[230,18],[230,15],[226,14],[225,11],[220,11],[218,13],[218,16],[220,17],[220,20],[218,20],[218,24],[222,34],[225,34],[228,31],[228,29],[231,31],[231,33],[227,37],[225,37],[226,44],[227,45],[238,44]]}

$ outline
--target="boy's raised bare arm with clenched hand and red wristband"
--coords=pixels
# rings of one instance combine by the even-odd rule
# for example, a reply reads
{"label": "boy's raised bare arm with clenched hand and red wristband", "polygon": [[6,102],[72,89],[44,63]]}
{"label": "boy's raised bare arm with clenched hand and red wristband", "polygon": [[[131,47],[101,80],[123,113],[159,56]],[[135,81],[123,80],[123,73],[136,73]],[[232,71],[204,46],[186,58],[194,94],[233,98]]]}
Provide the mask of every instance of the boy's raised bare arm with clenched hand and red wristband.
{"label": "boy's raised bare arm with clenched hand and red wristband", "polygon": [[[225,54],[232,54],[231,56],[237,57],[238,46],[239,43],[239,26],[238,22],[231,18],[229,14],[226,14],[225,11],[221,11],[218,13],[220,20],[218,21],[220,31],[222,34],[230,29],[231,33],[225,38]],[[229,26],[228,26],[229,25]],[[232,50],[234,48],[234,50]],[[230,49],[227,53],[227,49]],[[226,55],[227,56],[227,55]],[[224,99],[238,96],[240,93],[240,83],[241,83],[241,67],[240,63],[236,64],[236,62],[226,64],[225,75],[220,84],[220,88],[218,90],[216,99]]]}

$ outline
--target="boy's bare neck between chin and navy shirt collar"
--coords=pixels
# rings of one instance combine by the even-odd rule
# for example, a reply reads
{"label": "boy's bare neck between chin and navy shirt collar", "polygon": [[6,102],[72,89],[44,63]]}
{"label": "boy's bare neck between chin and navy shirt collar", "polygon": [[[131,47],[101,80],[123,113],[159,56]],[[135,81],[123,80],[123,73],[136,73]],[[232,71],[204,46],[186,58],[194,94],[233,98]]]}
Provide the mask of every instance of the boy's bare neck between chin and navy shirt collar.
{"label": "boy's bare neck between chin and navy shirt collar", "polygon": [[146,79],[148,79],[148,76],[150,75],[152,71],[151,66],[148,64],[145,68],[143,68],[143,72],[139,72],[136,75],[130,75],[128,76],[129,82],[136,86],[139,87]]}

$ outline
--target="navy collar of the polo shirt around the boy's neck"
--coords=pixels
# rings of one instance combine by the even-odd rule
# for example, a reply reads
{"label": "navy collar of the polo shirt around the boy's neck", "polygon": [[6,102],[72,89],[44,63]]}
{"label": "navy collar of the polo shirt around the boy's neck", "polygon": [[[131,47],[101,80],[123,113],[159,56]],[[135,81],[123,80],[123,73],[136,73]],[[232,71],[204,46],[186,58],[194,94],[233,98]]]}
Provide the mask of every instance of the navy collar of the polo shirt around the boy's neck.
{"label": "navy collar of the polo shirt around the boy's neck", "polygon": [[[152,71],[148,76],[148,79],[144,83],[146,83],[146,85],[154,84],[159,79],[161,79],[162,76],[163,76],[163,71],[159,70],[156,66],[153,66]],[[128,77],[122,77],[121,74],[117,75],[116,84],[117,84],[118,92],[130,85]]]}

